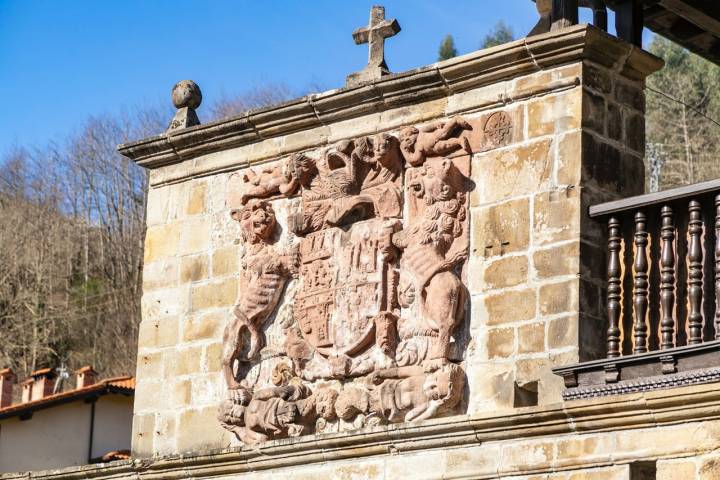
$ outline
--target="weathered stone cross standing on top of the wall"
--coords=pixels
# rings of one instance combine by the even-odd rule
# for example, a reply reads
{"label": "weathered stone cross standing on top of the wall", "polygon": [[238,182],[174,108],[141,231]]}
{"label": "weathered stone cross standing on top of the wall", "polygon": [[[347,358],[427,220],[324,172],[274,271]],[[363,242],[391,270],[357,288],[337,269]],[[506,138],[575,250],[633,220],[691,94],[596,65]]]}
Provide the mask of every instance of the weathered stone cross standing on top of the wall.
{"label": "weathered stone cross standing on top of the wall", "polygon": [[400,24],[394,18],[385,20],[385,7],[375,5],[370,10],[370,24],[353,32],[357,45],[368,44],[368,64],[359,72],[347,77],[347,85],[376,80],[390,73],[385,63],[385,39],[400,31]]}

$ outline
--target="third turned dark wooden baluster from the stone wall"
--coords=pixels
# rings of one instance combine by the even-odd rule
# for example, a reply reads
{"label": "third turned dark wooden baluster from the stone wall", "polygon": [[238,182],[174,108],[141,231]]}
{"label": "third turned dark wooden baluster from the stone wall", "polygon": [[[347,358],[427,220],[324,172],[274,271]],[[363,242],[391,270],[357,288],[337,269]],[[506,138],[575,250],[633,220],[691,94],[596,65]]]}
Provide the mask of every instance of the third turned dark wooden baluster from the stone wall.
{"label": "third turned dark wooden baluster from the stone wall", "polygon": [[662,251],[660,253],[660,303],[662,305],[662,320],[660,321],[662,349],[675,346],[675,319],[673,307],[675,305],[675,225],[673,225],[672,208],[665,205],[660,211],[662,226]]}

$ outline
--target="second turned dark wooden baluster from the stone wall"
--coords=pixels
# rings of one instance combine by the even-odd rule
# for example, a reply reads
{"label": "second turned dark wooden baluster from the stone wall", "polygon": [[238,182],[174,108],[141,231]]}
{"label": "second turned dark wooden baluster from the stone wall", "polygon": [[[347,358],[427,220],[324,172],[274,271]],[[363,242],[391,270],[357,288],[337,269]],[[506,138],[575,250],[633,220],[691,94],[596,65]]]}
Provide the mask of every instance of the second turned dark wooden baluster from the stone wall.
{"label": "second turned dark wooden baluster from the stone wall", "polygon": [[648,261],[647,261],[647,217],[639,211],[635,214],[635,282],[633,304],[633,353],[647,352],[647,307],[648,307]]}

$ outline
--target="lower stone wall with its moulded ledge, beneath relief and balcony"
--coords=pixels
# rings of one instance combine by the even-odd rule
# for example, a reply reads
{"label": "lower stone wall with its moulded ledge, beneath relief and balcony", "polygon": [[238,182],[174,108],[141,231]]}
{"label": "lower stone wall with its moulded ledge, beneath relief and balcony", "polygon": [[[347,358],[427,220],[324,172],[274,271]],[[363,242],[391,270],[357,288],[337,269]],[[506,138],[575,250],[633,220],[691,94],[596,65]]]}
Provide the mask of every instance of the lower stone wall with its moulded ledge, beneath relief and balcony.
{"label": "lower stone wall with its moulded ledge, beneath relief and balcony", "polygon": [[[277,440],[260,449],[36,472],[31,478],[716,480],[719,407],[717,388],[699,385]],[[630,474],[639,468],[655,476]]]}

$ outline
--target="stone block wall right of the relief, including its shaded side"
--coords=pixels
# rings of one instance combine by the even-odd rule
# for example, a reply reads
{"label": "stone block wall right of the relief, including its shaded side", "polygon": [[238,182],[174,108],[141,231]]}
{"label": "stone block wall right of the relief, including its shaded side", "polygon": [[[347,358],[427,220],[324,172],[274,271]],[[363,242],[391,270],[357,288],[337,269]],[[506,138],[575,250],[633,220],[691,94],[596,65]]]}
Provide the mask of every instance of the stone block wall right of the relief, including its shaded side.
{"label": "stone block wall right of the relief, including its shaded side", "polygon": [[[590,205],[642,193],[642,81],[591,61],[516,79],[523,136],[473,158],[470,411],[560,400],[551,367],[599,358],[605,230]],[[472,382],[471,382],[472,383]],[[528,391],[530,397],[528,399]]]}

